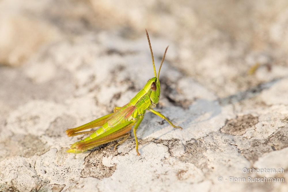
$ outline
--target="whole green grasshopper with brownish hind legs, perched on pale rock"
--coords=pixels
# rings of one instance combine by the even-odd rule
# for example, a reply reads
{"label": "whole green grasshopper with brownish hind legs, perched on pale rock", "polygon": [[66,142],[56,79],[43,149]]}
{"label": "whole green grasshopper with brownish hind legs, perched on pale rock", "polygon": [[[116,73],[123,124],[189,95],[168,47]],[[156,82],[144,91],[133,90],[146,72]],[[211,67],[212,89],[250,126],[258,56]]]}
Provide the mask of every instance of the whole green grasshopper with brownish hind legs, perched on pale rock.
{"label": "whole green grasshopper with brownish hind legs, perched on pale rock", "polygon": [[[76,136],[80,134],[91,134],[90,136],[77,141],[73,144],[71,144],[70,149],[66,152],[68,153],[82,153],[84,151],[90,150],[94,147],[97,147],[99,145],[122,139],[119,141],[115,146],[114,150],[118,145],[123,143],[128,136],[130,135],[130,130],[132,126],[133,133],[135,137],[135,143],[136,143],[136,152],[137,155],[140,155],[138,151],[138,140],[136,136],[136,130],[139,127],[140,123],[143,120],[143,117],[145,115],[146,110],[151,111],[152,113],[158,115],[159,117],[162,117],[165,119],[173,128],[180,128],[180,126],[175,126],[171,121],[169,121],[164,115],[161,113],[155,111],[153,108],[156,107],[156,104],[159,101],[160,98],[160,82],[159,82],[159,73],[161,66],[163,64],[166,52],[168,47],[166,47],[166,50],[164,52],[160,68],[158,71],[158,76],[156,77],[156,69],[154,64],[154,57],[153,52],[150,44],[149,35],[146,31],[146,36],[148,39],[148,44],[151,52],[152,57],[152,64],[154,69],[154,77],[149,79],[144,86],[142,90],[140,90],[135,97],[133,97],[130,102],[128,102],[123,107],[115,107],[113,110],[113,113],[110,113],[108,115],[105,115],[103,117],[100,117],[99,119],[96,119],[94,121],[91,121],[90,123],[86,123],[82,126],[67,129],[65,132],[67,136]],[[96,131],[83,131],[86,129],[94,128],[94,127],[100,127]]]}

